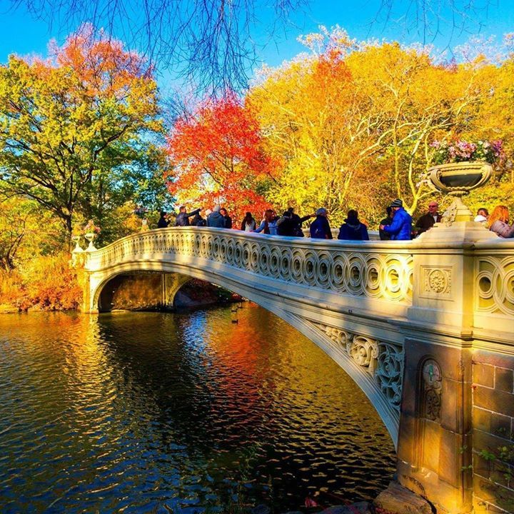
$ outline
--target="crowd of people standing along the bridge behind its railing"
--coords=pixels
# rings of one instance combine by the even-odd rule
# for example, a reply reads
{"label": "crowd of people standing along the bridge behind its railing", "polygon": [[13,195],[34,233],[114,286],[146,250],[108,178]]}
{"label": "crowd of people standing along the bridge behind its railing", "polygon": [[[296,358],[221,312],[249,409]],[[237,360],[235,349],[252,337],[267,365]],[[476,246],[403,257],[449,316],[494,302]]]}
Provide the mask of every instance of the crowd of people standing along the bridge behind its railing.
{"label": "crowd of people standing along the bridge behind its railing", "polygon": [[[438,211],[437,201],[428,203],[428,212],[418,218],[413,226],[413,219],[405,211],[403,202],[400,199],[393,200],[386,208],[387,216],[383,218],[378,226],[378,234],[382,241],[406,241],[420,236],[430,230],[435,223],[442,219]],[[170,215],[161,211],[161,218],[157,223],[158,228],[170,226],[175,217],[174,226],[208,226],[217,228],[233,228],[232,218],[228,215],[226,208],[219,205],[214,206],[213,210],[197,208],[187,212],[185,206],[178,209],[178,214]],[[191,221],[189,218],[192,218]],[[282,216],[278,216],[273,209],[267,209],[263,215],[261,223],[257,224],[251,212],[247,212],[241,222],[241,231],[265,233],[271,236],[290,236],[303,237],[303,222],[314,218],[309,227],[311,238],[332,239],[332,229],[328,221],[328,211],[326,208],[318,208],[316,213],[308,214],[302,218],[294,212],[293,207],[284,211]],[[488,209],[481,207],[477,211],[475,222],[483,223],[490,231],[495,232],[501,238],[514,237],[514,223],[509,222],[508,208],[496,206],[491,214]],[[368,227],[358,218],[355,209],[348,211],[348,216],[339,228],[338,239],[346,241],[368,241]]]}

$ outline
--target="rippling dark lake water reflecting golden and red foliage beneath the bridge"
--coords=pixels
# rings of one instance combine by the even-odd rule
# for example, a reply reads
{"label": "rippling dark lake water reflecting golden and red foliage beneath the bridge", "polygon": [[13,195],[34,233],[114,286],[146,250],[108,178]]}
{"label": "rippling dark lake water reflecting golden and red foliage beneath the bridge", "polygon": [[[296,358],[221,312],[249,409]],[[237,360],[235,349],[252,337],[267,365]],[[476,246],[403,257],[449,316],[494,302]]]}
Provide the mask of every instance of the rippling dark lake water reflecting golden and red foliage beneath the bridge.
{"label": "rippling dark lake water reflecting golden and red foliage beneath the bridge", "polygon": [[0,512],[372,498],[394,448],[361,390],[271,313],[238,317],[0,316]]}

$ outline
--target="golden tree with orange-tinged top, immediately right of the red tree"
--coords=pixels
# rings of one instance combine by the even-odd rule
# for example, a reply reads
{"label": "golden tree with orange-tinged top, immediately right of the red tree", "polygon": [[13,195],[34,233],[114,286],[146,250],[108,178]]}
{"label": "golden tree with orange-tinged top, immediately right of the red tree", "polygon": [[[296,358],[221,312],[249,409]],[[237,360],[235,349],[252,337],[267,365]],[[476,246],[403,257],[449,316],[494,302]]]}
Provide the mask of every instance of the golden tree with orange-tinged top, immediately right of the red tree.
{"label": "golden tree with orange-tinged top, immediately right of the red tree", "polygon": [[[341,221],[348,205],[362,201],[381,184],[380,166],[368,173],[385,138],[380,103],[358,84],[346,63],[351,41],[341,31],[338,44],[318,47],[307,36],[310,56],[276,71],[249,95],[266,133],[266,147],[283,168],[269,198],[303,211],[325,206]],[[359,188],[356,188],[359,183]]]}

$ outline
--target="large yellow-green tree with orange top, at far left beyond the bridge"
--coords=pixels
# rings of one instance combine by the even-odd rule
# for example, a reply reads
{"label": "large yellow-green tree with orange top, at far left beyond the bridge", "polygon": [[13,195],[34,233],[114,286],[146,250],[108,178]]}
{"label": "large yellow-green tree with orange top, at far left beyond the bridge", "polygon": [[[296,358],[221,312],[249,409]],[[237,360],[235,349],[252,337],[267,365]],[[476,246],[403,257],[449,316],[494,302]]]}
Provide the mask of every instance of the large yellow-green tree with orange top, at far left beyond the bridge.
{"label": "large yellow-green tree with orange top, at far left beyond the bridge", "polygon": [[[90,27],[51,59],[0,66],[0,180],[33,198],[71,233],[74,213],[112,195],[137,148],[161,131],[151,70]],[[89,212],[88,212],[89,211]]]}

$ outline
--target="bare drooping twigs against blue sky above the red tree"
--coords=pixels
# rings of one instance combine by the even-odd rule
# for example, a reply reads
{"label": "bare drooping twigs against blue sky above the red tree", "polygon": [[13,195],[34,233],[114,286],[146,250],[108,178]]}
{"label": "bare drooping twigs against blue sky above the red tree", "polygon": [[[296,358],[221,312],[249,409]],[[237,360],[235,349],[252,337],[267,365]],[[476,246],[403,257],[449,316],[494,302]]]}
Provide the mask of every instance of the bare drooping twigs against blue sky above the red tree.
{"label": "bare drooping twigs against blue sky above the red tree", "polygon": [[[251,29],[258,14],[284,26],[308,0],[10,0],[49,26],[75,31],[90,23],[122,39],[151,64],[201,93],[246,87],[256,64]],[[269,9],[272,9],[271,12]],[[261,27],[262,29],[262,27]]]}

